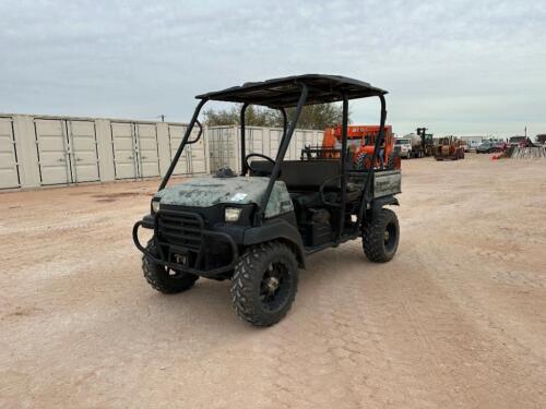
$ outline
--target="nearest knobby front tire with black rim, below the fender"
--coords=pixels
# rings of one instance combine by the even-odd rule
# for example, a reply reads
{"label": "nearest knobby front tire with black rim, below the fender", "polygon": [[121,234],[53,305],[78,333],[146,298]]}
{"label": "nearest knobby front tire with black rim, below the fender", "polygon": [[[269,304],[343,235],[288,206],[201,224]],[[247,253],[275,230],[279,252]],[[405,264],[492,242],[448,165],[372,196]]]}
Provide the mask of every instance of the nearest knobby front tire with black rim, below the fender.
{"label": "nearest knobby front tire with black rim, below the fender", "polygon": [[235,266],[235,312],[254,326],[278,323],[290,310],[298,287],[298,263],[292,250],[272,241],[249,248]]}

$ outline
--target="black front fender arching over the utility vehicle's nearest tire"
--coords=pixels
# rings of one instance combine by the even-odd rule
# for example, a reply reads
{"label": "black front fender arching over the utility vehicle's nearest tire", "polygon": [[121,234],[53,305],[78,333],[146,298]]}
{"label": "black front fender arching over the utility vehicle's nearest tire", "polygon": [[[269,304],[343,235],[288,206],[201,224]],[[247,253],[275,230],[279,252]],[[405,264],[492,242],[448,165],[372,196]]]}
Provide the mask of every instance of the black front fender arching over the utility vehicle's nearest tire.
{"label": "black front fender arching over the utility vehicle's nearest tire", "polygon": [[299,231],[287,220],[276,218],[260,227],[251,227],[245,230],[244,245],[264,243],[271,240],[281,240],[287,243],[298,260],[299,267],[306,268],[304,242]]}

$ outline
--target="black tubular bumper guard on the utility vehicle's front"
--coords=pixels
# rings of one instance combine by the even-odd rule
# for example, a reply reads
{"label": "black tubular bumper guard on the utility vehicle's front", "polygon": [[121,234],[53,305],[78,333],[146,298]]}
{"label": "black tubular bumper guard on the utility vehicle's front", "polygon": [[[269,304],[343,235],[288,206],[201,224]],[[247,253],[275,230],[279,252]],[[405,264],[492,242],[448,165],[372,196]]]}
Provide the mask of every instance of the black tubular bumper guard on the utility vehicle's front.
{"label": "black tubular bumper guard on the utility vehicle's front", "polygon": [[[237,263],[237,258],[239,256],[239,251],[237,249],[237,244],[235,243],[234,239],[224,233],[224,232],[221,232],[221,231],[212,231],[212,230],[205,230],[203,228],[203,220],[202,218],[197,215],[197,214],[189,214],[187,212],[174,212],[174,210],[167,210],[169,214],[175,214],[175,215],[191,215],[192,217],[198,217],[200,222],[201,222],[201,231],[200,231],[200,234],[201,234],[201,244],[200,244],[200,248],[199,250],[197,251],[198,255],[197,255],[197,260],[201,260],[204,255],[204,252],[205,252],[205,246],[206,246],[206,238],[214,238],[214,239],[219,239],[224,242],[227,242],[230,246],[230,250],[232,250],[232,261],[227,264],[227,265],[224,265],[222,267],[217,267],[217,268],[213,268],[213,269],[209,269],[209,270],[203,270],[203,269],[198,269],[198,268],[193,268],[193,267],[188,267],[187,265],[183,265],[183,264],[180,264],[180,263],[173,263],[170,261],[167,260],[167,257],[165,256],[163,250],[162,250],[162,246],[163,245],[169,245],[169,246],[173,246],[173,248],[180,248],[180,246],[177,246],[175,244],[169,244],[169,243],[166,243],[166,242],[161,242],[158,240],[158,233],[159,233],[159,229],[158,229],[158,216],[161,213],[166,213],[165,210],[159,210],[158,213],[155,214],[155,216],[153,216],[153,227],[151,226],[151,217],[147,216],[147,217],[144,217],[144,219],[142,220],[139,220],[134,224],[133,226],[133,229],[132,229],[132,238],[133,238],[133,242],[134,242],[134,245],[136,246],[136,249],[139,249],[147,258],[150,258],[153,263],[156,263],[156,264],[161,264],[161,265],[164,265],[166,267],[169,267],[169,268],[173,268],[173,269],[176,269],[176,270],[180,270],[182,273],[188,273],[188,274],[194,274],[194,275],[198,275],[198,276],[201,276],[201,277],[209,277],[209,278],[215,278],[224,273],[227,273],[227,272],[230,272],[235,268],[235,264]],[[142,245],[142,243],[140,242],[139,240],[139,228],[140,227],[144,227],[144,228],[153,228],[154,230],[154,237],[153,237],[153,240],[155,242],[155,245],[157,249],[159,249],[159,256],[157,256],[156,254],[152,254],[145,246]],[[197,263],[195,263],[197,264]]]}

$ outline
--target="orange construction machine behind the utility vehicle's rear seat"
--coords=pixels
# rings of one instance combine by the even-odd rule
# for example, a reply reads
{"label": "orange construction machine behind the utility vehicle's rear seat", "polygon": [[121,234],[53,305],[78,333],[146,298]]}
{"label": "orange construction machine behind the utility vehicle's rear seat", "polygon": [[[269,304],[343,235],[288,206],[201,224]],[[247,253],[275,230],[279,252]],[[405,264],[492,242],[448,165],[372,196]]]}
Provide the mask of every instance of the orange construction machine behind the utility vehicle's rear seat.
{"label": "orange construction machine behind the utility vehicle's rear seat", "polygon": [[[347,149],[356,169],[369,169],[379,135],[379,125],[348,125]],[[324,157],[339,157],[341,151],[342,127],[327,128],[322,139]],[[377,156],[376,168],[400,169],[400,156],[394,152],[392,127],[384,125],[384,140]]]}

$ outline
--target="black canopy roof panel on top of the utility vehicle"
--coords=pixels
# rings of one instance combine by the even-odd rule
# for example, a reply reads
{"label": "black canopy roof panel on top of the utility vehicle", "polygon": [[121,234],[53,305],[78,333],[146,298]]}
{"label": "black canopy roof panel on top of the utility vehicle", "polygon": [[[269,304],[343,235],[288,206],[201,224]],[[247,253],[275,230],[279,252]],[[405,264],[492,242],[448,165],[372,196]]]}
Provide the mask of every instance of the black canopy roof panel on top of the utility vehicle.
{"label": "black canopy roof panel on top of the utility vehicle", "polygon": [[294,107],[298,104],[301,94],[300,84],[306,84],[309,88],[306,105],[340,101],[343,99],[342,94],[347,95],[348,99],[387,94],[387,91],[346,76],[306,74],[245,83],[240,86],[198,95],[195,98],[264,105],[271,108]]}

